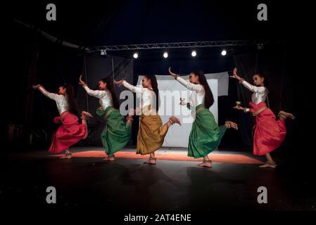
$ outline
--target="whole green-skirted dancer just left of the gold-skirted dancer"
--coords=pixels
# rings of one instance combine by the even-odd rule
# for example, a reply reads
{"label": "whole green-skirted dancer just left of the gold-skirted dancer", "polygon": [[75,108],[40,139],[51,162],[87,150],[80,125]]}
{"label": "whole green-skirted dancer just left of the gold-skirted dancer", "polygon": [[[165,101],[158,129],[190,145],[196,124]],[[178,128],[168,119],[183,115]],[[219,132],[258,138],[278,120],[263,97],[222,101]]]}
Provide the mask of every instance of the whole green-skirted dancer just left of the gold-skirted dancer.
{"label": "whole green-skirted dancer just left of the gold-skirted dancer", "polygon": [[127,122],[123,121],[123,117],[118,110],[118,98],[115,96],[113,79],[103,78],[99,80],[99,90],[91,90],[87,84],[82,81],[80,76],[79,84],[87,91],[89,96],[99,98],[100,108],[96,110],[96,114],[104,117],[106,127],[104,127],[101,140],[103,148],[106,150],[108,157],[105,160],[114,161],[114,153],[121,150],[128,143],[132,134],[132,115],[130,112],[127,116]]}

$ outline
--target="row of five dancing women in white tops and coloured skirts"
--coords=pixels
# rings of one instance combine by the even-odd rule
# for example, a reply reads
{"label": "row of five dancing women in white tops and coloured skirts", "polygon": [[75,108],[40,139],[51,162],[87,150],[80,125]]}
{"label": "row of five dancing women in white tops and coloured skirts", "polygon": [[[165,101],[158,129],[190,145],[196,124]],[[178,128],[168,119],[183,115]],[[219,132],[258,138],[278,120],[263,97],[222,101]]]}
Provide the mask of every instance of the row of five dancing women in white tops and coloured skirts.
{"label": "row of five dancing women in white tops and coloured skirts", "polygon": [[[222,136],[224,136],[227,129],[238,129],[237,124],[226,121],[224,125],[218,126],[215,122],[213,113],[209,110],[214,103],[214,98],[203,72],[191,72],[189,80],[184,80],[172,72],[171,68],[169,68],[169,72],[179,84],[191,90],[190,102],[182,102],[182,105],[186,105],[189,110],[195,113],[189,134],[188,156],[203,158],[203,162],[199,164],[201,167],[212,167],[212,160],[208,158],[208,155],[220,145]],[[270,152],[279,148],[284,140],[286,135],[284,120],[288,117],[294,119],[294,117],[291,113],[280,111],[279,120],[276,120],[270,108],[267,108],[267,105],[265,105],[267,89],[264,86],[265,78],[263,75],[253,76],[255,85],[251,85],[239,77],[236,68],[231,77],[238,79],[247,89],[253,91],[251,108],[234,107],[237,110],[244,110],[245,113],[251,112],[255,116],[253,154],[266,156],[267,162],[260,167],[275,168],[277,165],[272,160]],[[101,140],[106,152],[105,160],[107,161],[114,161],[115,153],[127,145],[132,134],[133,115],[136,112],[134,109],[129,110],[126,120],[124,120],[119,111],[114,84],[123,85],[130,91],[141,95],[141,115],[136,153],[149,155],[148,160],[144,163],[155,165],[157,160],[155,151],[163,145],[169,127],[173,124],[181,126],[180,120],[175,116],[171,116],[165,124],[161,121],[158,115],[159,94],[156,77],[145,75],[141,87],[129,84],[124,79],[115,81],[113,78],[104,78],[99,80],[99,90],[91,90],[82,80],[82,76],[80,76],[79,84],[87,91],[88,95],[99,98],[100,107],[96,109],[96,114],[106,120]],[[56,101],[60,114],[59,117],[54,118],[54,122],[61,125],[53,136],[49,152],[61,153],[65,150],[65,155],[62,158],[72,158],[69,148],[78,141],[87,139],[87,119],[92,115],[82,111],[82,122],[81,124],[78,122],[75,94],[70,84],[60,86],[58,94],[49,93],[40,84],[34,85],[33,88],[39,89],[42,94]]]}

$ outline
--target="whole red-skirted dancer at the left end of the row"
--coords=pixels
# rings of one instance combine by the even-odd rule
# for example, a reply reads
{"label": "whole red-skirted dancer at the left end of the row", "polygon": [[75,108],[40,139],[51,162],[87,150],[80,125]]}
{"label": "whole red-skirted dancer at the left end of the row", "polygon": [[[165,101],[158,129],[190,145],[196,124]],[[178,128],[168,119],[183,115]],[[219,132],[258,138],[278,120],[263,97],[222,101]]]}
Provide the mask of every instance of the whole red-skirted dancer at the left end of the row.
{"label": "whole red-skirted dancer at the left end of the row", "polygon": [[44,94],[44,96],[56,101],[56,105],[59,112],[59,117],[54,118],[56,124],[61,124],[58,127],[56,133],[53,136],[50,153],[61,153],[65,150],[65,156],[62,158],[72,158],[72,153],[69,147],[80,141],[81,139],[87,139],[87,117],[92,117],[90,113],[82,111],[82,124],[78,122],[77,107],[75,102],[75,91],[71,84],[65,84],[60,86],[58,94],[50,93],[46,91],[41,84],[33,85],[34,89]]}

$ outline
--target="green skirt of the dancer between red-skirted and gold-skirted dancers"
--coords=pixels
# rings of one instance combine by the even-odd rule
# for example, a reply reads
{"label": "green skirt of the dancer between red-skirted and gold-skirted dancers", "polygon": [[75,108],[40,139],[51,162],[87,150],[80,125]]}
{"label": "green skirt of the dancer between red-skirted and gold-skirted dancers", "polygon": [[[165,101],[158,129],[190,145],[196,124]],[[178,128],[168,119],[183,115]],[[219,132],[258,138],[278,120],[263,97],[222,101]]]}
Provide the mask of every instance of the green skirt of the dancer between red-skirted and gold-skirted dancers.
{"label": "green skirt of the dancer between red-skirted and gold-skirted dancers", "polygon": [[132,134],[132,124],[124,122],[120,111],[112,106],[108,106],[106,110],[98,108],[96,114],[103,116],[106,120],[106,127],[102,131],[101,140],[106,154],[113,155],[128,143]]}

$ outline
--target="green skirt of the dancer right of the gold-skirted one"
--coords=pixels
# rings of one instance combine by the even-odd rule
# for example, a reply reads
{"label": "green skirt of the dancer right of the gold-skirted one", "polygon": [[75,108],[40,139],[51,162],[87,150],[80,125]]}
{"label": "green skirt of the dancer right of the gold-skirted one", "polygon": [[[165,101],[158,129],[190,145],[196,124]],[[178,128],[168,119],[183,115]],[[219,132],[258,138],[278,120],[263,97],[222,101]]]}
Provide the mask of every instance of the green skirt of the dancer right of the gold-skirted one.
{"label": "green skirt of the dancer right of the gold-skirted one", "polygon": [[218,127],[213,113],[204,105],[196,106],[195,110],[196,118],[189,136],[188,156],[202,158],[220,145],[226,127],[225,125]]}

